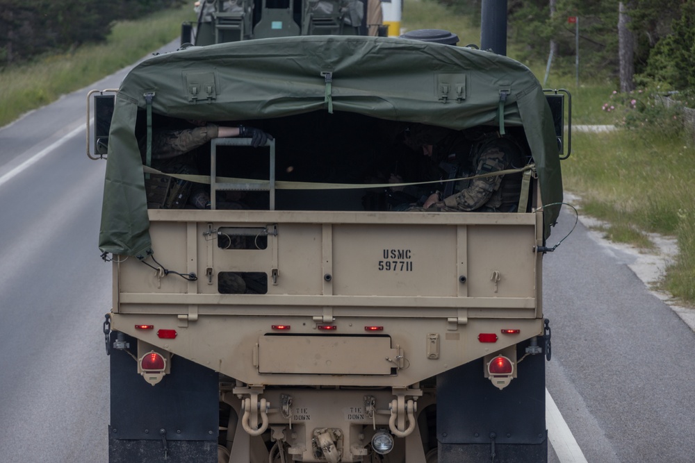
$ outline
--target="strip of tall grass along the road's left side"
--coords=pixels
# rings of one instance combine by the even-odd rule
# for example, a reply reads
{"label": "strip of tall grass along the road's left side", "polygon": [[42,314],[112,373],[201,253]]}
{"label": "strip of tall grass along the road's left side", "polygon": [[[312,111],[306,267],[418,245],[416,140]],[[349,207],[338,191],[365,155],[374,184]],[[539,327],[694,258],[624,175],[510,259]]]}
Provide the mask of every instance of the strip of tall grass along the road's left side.
{"label": "strip of tall grass along the road's left side", "polygon": [[135,22],[117,22],[104,44],[84,45],[2,69],[0,126],[147,56],[178,37],[181,22],[193,17],[192,6],[186,4]]}

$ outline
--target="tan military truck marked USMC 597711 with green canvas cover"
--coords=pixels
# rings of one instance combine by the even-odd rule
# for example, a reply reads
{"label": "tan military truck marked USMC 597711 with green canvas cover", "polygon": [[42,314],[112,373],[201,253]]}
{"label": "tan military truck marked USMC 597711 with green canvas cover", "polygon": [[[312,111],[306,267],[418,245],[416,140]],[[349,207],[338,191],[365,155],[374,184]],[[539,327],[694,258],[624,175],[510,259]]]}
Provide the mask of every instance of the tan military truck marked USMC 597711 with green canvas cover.
{"label": "tan military truck marked USMC 597711 with green canvas cover", "polygon": [[[527,67],[403,38],[281,37],[155,56],[115,99],[92,94],[112,463],[546,461],[562,96]],[[152,139],[172,121],[274,139],[215,138],[193,173],[165,173]],[[423,125],[513,136],[523,163],[490,175],[523,178],[518,210],[395,205],[398,187],[466,181],[418,178],[427,158],[402,137]],[[186,204],[186,185],[210,207]]]}

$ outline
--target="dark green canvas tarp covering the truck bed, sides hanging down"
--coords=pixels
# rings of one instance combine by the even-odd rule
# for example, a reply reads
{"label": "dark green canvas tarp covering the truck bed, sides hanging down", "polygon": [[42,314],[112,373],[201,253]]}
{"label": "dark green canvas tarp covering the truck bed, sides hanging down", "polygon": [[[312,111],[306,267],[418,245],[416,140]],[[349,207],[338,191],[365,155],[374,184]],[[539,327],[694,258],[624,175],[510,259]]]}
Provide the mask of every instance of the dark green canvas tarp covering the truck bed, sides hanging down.
{"label": "dark green canvas tarp covering the truck bed, sides hanging down", "polygon": [[[523,126],[543,203],[562,201],[553,117],[539,82],[519,62],[395,37],[248,40],[154,56],[124,78],[109,133],[101,251],[140,255],[151,245],[135,135],[149,92],[153,112],[182,119],[241,121],[332,109],[456,130],[498,124],[505,92],[503,124]],[[547,237],[559,207],[546,212]]]}

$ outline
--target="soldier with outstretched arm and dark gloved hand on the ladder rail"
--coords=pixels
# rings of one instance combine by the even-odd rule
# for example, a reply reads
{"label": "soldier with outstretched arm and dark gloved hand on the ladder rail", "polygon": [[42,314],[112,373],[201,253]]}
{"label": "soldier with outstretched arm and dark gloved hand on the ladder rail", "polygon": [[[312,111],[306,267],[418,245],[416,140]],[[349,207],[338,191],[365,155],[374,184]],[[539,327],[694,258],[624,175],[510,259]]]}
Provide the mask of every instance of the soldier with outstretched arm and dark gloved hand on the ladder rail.
{"label": "soldier with outstretched arm and dark gloved hand on the ladder rail", "polygon": [[[249,137],[254,148],[264,145],[272,136],[248,126],[218,126],[204,121],[188,121],[193,127],[163,128],[152,133],[152,164],[167,174],[198,174],[195,150],[213,138]],[[140,137],[140,151],[147,152],[147,139]],[[210,194],[199,183],[152,175],[145,182],[148,207],[183,208],[190,203],[195,208],[210,207]]]}

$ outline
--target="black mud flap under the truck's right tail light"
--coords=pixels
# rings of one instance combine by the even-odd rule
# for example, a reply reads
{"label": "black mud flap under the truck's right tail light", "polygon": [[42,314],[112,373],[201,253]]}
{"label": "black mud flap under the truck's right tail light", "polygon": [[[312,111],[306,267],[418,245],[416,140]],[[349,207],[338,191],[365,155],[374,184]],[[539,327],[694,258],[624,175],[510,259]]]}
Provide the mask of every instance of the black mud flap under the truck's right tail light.
{"label": "black mud flap under the truck's right tail light", "polygon": [[545,362],[529,355],[502,390],[484,378],[482,359],[437,376],[439,463],[547,462]]}

